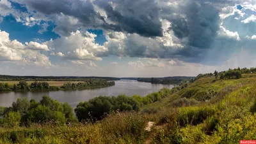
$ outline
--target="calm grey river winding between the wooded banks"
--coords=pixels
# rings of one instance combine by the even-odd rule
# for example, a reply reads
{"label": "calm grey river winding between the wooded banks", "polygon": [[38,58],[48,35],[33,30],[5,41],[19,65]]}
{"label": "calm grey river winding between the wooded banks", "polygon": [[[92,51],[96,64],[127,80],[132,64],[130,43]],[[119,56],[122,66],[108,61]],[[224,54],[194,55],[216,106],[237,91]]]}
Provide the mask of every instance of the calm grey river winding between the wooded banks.
{"label": "calm grey river winding between the wooded banks", "polygon": [[156,92],[163,87],[172,89],[174,85],[152,84],[137,82],[136,80],[117,80],[115,81],[115,86],[92,90],[4,92],[0,93],[0,106],[11,106],[13,101],[16,101],[19,97],[28,97],[28,99],[39,101],[42,96],[47,95],[61,103],[67,102],[75,108],[80,101],[88,101],[97,96],[117,96],[118,94],[125,94],[127,96],[132,96],[134,94],[147,96],[148,93]]}

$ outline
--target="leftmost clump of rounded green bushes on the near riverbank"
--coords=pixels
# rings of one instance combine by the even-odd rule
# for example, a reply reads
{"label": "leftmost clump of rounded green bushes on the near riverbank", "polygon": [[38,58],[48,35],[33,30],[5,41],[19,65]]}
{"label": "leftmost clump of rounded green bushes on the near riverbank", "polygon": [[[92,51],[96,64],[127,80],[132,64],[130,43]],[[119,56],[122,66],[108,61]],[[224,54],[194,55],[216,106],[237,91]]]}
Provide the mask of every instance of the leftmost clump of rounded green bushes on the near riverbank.
{"label": "leftmost clump of rounded green bushes on the near riverbank", "polygon": [[68,103],[43,96],[39,103],[34,99],[17,99],[9,108],[0,108],[0,126],[19,127],[29,126],[33,123],[44,124],[54,122],[65,124],[65,122],[76,122],[72,107]]}

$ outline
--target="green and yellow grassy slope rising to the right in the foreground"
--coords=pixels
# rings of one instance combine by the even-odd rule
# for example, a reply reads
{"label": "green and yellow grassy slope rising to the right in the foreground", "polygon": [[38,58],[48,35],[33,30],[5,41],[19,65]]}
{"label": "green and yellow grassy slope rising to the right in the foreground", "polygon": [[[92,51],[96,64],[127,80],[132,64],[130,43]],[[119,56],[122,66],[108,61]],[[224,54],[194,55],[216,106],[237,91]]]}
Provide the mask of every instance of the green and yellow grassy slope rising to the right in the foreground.
{"label": "green and yellow grassy slope rising to the right in the foreground", "polygon": [[[140,113],[116,113],[97,124],[0,129],[0,143],[239,143],[256,140],[256,77],[202,78]],[[185,98],[186,97],[186,98]],[[255,106],[256,107],[256,106]],[[152,131],[144,130],[156,122]]]}

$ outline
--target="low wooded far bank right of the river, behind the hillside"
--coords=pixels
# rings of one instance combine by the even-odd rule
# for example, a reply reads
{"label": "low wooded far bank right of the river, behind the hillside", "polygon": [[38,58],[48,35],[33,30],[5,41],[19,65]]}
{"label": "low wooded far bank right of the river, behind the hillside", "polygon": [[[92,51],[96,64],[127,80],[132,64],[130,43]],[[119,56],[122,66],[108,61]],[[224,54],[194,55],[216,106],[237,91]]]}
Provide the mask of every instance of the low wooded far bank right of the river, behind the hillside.
{"label": "low wooded far bank right of the river, behind the hillside", "polygon": [[138,78],[138,82],[150,82],[150,83],[161,83],[161,84],[179,84],[184,80],[190,80],[192,76],[170,76],[164,78]]}

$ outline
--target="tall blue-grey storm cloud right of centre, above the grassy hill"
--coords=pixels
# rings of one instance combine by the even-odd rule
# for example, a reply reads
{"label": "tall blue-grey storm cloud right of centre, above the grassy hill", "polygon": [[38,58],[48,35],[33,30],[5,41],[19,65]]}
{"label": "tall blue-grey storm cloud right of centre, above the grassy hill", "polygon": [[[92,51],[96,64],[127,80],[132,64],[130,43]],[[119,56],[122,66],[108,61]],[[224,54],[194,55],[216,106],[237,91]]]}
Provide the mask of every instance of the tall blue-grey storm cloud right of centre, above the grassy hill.
{"label": "tall blue-grey storm cloud right of centre, above the grassy hill", "polygon": [[[173,8],[174,9],[174,8]],[[187,45],[209,48],[220,27],[219,11],[212,4],[187,1],[176,8],[179,13],[165,8],[163,18],[172,22],[171,29],[177,38],[188,38]],[[177,10],[175,10],[177,11]],[[168,15],[168,13],[171,13]]]}

